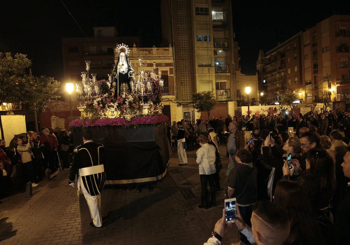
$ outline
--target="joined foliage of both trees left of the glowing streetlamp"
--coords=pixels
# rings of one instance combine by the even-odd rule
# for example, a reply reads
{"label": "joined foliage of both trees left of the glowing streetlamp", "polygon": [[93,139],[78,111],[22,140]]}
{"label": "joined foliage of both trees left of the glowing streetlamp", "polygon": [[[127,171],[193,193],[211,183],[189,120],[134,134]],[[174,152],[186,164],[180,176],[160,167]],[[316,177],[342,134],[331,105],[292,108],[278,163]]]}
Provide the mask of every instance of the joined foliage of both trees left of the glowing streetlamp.
{"label": "joined foliage of both trees left of the glowing streetlamp", "polygon": [[0,100],[6,103],[28,103],[33,111],[42,112],[47,102],[59,98],[59,82],[52,77],[27,74],[30,59],[24,54],[0,52]]}

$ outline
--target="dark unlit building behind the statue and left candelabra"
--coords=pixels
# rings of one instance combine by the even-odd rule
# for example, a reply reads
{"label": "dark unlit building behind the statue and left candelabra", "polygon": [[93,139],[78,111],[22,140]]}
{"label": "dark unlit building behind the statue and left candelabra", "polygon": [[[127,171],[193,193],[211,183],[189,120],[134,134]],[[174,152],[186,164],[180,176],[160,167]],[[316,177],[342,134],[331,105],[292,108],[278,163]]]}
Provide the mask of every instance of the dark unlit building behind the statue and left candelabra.
{"label": "dark unlit building behind the statue and left candelabra", "polygon": [[[90,61],[91,73],[97,79],[108,79],[114,65],[114,48],[117,43],[139,47],[139,36],[118,36],[115,27],[93,27],[94,37],[62,38],[64,82],[81,82],[85,61]],[[64,82],[62,83],[64,85]],[[65,94],[66,95],[66,94]],[[73,101],[76,96],[72,96]]]}

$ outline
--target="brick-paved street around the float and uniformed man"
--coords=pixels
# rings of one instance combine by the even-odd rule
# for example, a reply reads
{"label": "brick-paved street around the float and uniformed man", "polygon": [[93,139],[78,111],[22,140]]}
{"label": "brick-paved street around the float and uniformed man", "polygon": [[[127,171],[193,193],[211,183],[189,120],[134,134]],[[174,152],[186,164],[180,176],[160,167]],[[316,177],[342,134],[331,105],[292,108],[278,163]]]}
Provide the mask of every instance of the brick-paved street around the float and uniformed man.
{"label": "brick-paved street around the float and uniformed man", "polygon": [[[228,159],[225,146],[221,184],[226,183]],[[50,182],[25,193],[7,197],[0,204],[0,244],[203,244],[222,216],[224,191],[217,193],[217,207],[199,209],[200,178],[194,151],[188,151],[188,165],[178,166],[176,150],[170,158],[166,177],[154,183],[154,191],[106,186],[102,193],[103,216],[100,229],[90,227],[89,208],[83,194],[68,186],[68,170]],[[238,240],[235,225],[222,244]]]}

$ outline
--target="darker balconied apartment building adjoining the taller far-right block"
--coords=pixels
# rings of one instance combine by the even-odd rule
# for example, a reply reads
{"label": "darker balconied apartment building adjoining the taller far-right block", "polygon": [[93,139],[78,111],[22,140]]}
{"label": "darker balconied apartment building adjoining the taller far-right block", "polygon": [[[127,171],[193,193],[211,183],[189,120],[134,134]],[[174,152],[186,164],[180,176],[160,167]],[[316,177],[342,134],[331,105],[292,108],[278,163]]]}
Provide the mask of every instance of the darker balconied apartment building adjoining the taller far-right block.
{"label": "darker balconied apartment building adjoining the taller far-right block", "polygon": [[294,91],[297,99],[302,101],[299,92],[304,86],[301,71],[300,40],[302,32],[266,52],[259,51],[257,70],[259,77],[259,93],[261,102],[266,104],[278,103],[279,94],[286,90]]}

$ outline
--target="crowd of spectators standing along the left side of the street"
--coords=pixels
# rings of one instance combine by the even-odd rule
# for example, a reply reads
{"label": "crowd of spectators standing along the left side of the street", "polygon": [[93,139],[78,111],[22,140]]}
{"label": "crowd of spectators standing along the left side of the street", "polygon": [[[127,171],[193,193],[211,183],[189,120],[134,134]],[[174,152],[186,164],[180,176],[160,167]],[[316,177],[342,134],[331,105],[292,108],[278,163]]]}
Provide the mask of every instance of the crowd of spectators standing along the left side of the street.
{"label": "crowd of spectators standing along the left side of the street", "polygon": [[[60,167],[70,168],[73,153],[72,138],[67,130],[42,128],[40,134],[33,131],[14,135],[11,142],[0,140],[0,197],[14,193],[14,183],[32,187]],[[61,163],[61,166],[59,166]]]}

